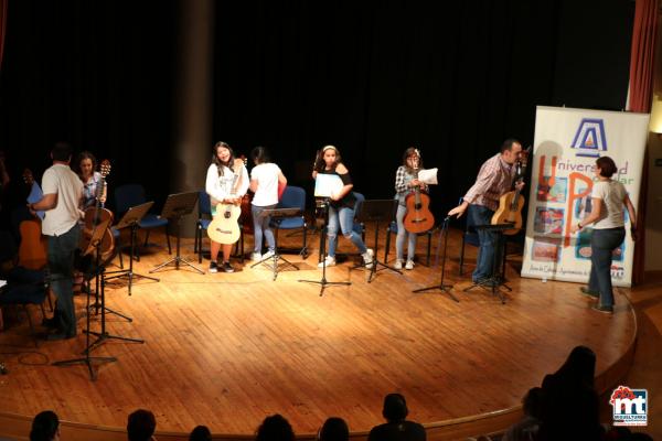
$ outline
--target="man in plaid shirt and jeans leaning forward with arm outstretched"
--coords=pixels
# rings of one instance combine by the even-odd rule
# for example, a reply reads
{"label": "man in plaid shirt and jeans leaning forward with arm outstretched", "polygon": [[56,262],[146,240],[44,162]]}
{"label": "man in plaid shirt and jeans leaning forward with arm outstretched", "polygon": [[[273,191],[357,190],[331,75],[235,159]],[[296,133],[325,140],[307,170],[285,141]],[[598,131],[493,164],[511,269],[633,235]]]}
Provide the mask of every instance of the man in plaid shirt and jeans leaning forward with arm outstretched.
{"label": "man in plaid shirt and jeans leaning forward with arm outstretched", "polygon": [[[480,171],[476,183],[462,197],[462,203],[448,212],[449,216],[460,217],[467,209],[473,225],[489,225],[492,216],[499,208],[500,197],[510,192],[513,186],[516,169],[515,162],[522,155],[522,143],[516,139],[506,139],[501,144],[501,152],[487,160]],[[524,182],[517,182],[515,187],[522,190]],[[478,230],[479,249],[476,270],[471,279],[474,283],[491,278],[492,265],[495,256],[499,234],[484,229]]]}

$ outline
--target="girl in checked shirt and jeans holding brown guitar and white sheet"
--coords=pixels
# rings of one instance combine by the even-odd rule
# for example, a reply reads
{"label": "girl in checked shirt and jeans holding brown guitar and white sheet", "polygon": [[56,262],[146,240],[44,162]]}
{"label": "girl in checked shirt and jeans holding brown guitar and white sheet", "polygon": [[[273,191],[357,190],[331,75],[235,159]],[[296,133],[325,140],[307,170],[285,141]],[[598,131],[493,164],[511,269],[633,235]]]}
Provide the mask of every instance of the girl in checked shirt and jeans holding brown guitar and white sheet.
{"label": "girl in checked shirt and jeans holding brown guitar and white sheet", "polygon": [[423,166],[420,152],[415,147],[409,147],[403,154],[403,164],[395,172],[395,198],[397,200],[397,212],[395,219],[397,220],[397,237],[395,239],[396,260],[393,268],[403,269],[404,245],[407,238],[407,262],[405,269],[414,269],[414,255],[416,254],[416,233],[410,233],[405,229],[405,215],[407,214],[406,197],[412,194],[414,189],[419,187],[423,191],[428,190],[428,186],[418,181],[417,171]]}

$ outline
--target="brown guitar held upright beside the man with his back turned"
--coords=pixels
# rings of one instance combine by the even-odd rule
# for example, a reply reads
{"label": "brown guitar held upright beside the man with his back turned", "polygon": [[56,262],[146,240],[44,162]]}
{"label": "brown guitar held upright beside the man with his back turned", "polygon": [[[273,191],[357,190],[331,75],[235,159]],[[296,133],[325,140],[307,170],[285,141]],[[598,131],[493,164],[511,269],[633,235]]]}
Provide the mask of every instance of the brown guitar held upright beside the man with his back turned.
{"label": "brown guitar held upright beside the man with his back turned", "polygon": [[[109,220],[108,225],[113,223],[113,212],[107,208],[104,208],[102,204],[102,196],[106,191],[106,178],[108,176],[108,174],[110,174],[110,161],[108,161],[107,159],[102,161],[102,163],[99,164],[99,173],[102,176],[99,179],[99,182],[97,183],[95,195],[96,204],[95,206],[90,206],[89,208],[87,208],[84,215],[84,225],[83,230],[81,232],[81,243],[78,245],[81,250],[83,251],[87,250],[89,245],[94,245],[89,241],[92,240],[94,229],[97,225],[106,220]],[[102,241],[98,244],[98,246],[102,260],[105,261],[110,256],[113,256],[113,250],[115,249],[115,237],[113,236],[113,232],[110,230],[110,228],[106,228]]]}

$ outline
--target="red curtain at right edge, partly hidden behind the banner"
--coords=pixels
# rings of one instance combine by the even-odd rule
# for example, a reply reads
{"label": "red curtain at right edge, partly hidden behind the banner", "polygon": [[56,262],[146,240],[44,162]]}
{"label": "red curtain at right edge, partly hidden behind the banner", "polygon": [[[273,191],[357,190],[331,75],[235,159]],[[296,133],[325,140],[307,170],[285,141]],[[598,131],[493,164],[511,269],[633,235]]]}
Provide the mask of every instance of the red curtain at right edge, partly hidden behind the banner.
{"label": "red curtain at right edge, partly hidden behind the banner", "polygon": [[[651,110],[653,74],[655,71],[655,42],[658,31],[659,0],[637,0],[632,50],[630,54],[630,106],[629,110],[649,112]],[[637,211],[637,247],[632,281],[643,282],[645,258],[645,201],[648,197],[648,150],[643,161],[641,192]]]}

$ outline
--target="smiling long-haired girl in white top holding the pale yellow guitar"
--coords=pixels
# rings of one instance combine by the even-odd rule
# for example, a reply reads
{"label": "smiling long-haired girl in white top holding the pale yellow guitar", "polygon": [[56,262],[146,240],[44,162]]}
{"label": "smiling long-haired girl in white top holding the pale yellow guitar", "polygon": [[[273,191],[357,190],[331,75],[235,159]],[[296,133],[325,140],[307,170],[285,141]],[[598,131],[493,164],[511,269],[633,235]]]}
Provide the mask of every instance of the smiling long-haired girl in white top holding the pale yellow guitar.
{"label": "smiling long-haired girl in white top holding the pale yellow guitar", "polygon": [[[232,148],[225,142],[216,142],[214,153],[212,155],[212,164],[207,169],[205,190],[212,200],[212,216],[216,219],[222,216],[225,208],[234,205],[238,208],[242,204],[242,197],[248,190],[248,172],[244,165],[244,161],[236,159]],[[238,215],[237,215],[238,216]],[[238,223],[228,225],[228,228],[238,232]],[[207,228],[207,234],[211,234]],[[235,237],[234,234],[229,235]],[[238,236],[236,236],[238,237]],[[211,238],[211,236],[210,236]],[[234,272],[234,268],[229,265],[229,255],[232,254],[232,245],[234,241],[223,243],[211,239],[211,260],[210,272],[218,272],[218,251],[223,245],[223,265],[221,269],[224,272]]]}

